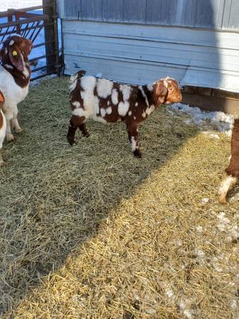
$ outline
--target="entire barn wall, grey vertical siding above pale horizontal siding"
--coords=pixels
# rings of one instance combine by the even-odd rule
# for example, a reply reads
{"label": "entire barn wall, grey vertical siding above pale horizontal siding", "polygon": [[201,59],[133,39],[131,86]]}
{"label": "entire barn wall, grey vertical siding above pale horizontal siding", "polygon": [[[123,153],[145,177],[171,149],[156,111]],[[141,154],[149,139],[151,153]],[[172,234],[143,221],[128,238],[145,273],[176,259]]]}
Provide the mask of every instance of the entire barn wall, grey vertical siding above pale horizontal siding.
{"label": "entire barn wall, grey vertical siding above pale horizontal siding", "polygon": [[58,0],[65,72],[239,91],[238,0]]}

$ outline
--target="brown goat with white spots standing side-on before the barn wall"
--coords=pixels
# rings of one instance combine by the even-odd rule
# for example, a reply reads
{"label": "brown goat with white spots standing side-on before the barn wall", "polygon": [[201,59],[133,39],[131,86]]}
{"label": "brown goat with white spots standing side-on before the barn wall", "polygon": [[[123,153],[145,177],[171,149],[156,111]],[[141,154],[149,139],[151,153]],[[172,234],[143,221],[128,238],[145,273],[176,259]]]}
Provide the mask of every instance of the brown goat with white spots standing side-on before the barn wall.
{"label": "brown goat with white spots standing side-on before the barn wall", "polygon": [[141,157],[138,125],[160,104],[182,101],[177,81],[169,77],[149,85],[136,86],[87,77],[84,71],[79,71],[71,77],[71,82],[72,118],[67,134],[70,145],[75,143],[77,128],[84,136],[89,136],[85,126],[88,118],[103,123],[124,121],[135,157]]}

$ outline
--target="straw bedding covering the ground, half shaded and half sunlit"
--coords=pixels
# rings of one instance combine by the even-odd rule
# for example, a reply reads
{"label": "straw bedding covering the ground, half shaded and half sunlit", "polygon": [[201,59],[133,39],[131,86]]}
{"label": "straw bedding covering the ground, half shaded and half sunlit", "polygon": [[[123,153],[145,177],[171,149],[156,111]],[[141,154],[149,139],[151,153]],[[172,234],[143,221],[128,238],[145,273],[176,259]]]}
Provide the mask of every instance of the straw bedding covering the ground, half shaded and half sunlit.
{"label": "straw bedding covering the ground, half shaded and half sunlit", "polygon": [[239,205],[216,199],[230,140],[161,108],[142,160],[123,125],[72,148],[67,100],[65,79],[32,88],[5,145],[2,318],[238,318]]}

